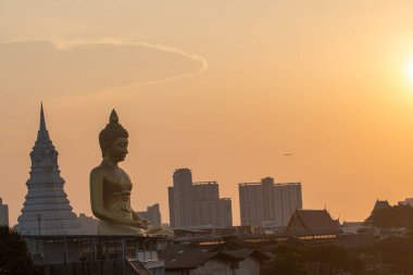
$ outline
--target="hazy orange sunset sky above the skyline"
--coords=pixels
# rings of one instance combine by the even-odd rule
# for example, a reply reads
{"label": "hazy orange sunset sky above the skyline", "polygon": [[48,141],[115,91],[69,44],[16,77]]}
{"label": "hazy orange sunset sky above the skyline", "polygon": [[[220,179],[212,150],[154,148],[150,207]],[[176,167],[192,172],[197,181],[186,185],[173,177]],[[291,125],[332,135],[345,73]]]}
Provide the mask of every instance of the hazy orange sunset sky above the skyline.
{"label": "hazy orange sunset sky above the skyline", "polygon": [[[303,205],[364,220],[413,197],[413,1],[0,1],[0,196],[14,225],[45,104],[65,191],[91,214],[89,172],[115,108],[135,210],[175,168],[301,182]],[[285,157],[285,153],[291,153]]]}

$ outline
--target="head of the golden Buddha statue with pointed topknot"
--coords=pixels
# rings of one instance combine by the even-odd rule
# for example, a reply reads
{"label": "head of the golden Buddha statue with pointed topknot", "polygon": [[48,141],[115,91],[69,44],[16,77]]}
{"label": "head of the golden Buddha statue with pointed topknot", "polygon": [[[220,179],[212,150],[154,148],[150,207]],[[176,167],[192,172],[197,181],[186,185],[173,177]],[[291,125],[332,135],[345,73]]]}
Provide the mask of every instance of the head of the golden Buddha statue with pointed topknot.
{"label": "head of the golden Buddha statue with pointed topknot", "polygon": [[129,134],[118,123],[115,110],[112,111],[109,123],[99,134],[99,145],[102,158],[114,163],[124,161],[127,154],[127,138]]}

